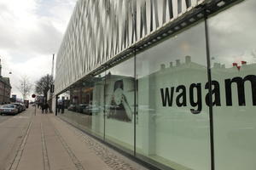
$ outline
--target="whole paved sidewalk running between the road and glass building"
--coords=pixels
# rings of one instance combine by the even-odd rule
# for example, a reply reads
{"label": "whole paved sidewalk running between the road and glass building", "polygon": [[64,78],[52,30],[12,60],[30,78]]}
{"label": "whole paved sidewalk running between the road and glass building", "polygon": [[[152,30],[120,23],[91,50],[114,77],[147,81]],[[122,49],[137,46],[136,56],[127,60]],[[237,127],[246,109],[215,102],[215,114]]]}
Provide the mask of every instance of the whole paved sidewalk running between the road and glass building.
{"label": "whole paved sidewalk running between the road and glass building", "polygon": [[36,116],[31,113],[11,170],[146,169],[57,116],[37,112]]}

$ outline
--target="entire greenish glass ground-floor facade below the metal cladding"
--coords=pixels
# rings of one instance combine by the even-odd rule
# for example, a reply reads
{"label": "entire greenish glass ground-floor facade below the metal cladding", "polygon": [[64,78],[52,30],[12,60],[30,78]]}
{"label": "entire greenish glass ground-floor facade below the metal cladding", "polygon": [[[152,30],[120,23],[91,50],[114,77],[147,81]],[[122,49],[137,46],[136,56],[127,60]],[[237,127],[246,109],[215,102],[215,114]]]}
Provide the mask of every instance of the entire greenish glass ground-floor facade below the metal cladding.
{"label": "entire greenish glass ground-floor facade below the metal cladding", "polygon": [[237,3],[106,65],[59,95],[58,116],[160,169],[255,169],[254,8]]}

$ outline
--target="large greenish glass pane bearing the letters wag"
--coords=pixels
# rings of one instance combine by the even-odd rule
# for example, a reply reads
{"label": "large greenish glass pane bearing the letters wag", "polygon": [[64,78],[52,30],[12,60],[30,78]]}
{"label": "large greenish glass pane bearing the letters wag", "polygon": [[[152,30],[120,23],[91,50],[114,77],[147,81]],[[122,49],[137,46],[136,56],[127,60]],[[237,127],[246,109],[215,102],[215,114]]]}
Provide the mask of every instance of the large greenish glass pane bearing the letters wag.
{"label": "large greenish glass pane bearing the letters wag", "polygon": [[[137,156],[210,169],[204,23],[137,54]],[[156,161],[156,162],[155,162]]]}

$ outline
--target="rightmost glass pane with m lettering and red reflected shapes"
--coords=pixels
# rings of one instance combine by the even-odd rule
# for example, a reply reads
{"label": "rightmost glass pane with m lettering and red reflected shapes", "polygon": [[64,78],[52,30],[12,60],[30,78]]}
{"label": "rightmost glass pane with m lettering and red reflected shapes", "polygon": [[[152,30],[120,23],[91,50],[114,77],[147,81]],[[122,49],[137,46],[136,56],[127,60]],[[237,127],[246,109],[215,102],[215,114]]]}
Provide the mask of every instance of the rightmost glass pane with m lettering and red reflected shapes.
{"label": "rightmost glass pane with m lettering and red reflected shapes", "polygon": [[256,169],[256,1],[209,20],[215,165]]}

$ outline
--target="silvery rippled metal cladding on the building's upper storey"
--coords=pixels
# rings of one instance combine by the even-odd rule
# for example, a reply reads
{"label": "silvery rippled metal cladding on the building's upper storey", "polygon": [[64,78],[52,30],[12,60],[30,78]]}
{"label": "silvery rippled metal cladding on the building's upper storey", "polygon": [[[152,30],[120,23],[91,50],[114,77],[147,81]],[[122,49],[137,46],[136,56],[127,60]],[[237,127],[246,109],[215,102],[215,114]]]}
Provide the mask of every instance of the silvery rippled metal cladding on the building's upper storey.
{"label": "silvery rippled metal cladding on the building's upper storey", "polygon": [[56,62],[55,93],[207,0],[79,0]]}

